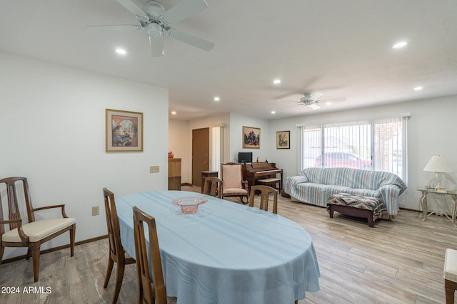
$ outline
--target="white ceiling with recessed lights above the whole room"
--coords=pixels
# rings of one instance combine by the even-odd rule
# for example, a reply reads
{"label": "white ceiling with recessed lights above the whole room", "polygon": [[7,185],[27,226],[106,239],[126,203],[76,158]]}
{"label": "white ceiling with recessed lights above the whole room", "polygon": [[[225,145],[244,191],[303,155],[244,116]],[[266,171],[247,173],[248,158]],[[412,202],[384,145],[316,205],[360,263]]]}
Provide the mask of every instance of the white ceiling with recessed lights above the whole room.
{"label": "white ceiling with recessed lights above the whole room", "polygon": [[[178,2],[161,1],[166,9]],[[115,0],[0,0],[0,51],[169,88],[169,108],[185,120],[220,112],[275,119],[457,94],[456,0],[207,2],[173,27],[214,49],[165,37],[165,56],[153,58],[144,31],[86,27],[137,24]],[[408,45],[391,48],[398,41]],[[114,53],[119,46],[127,56]],[[293,102],[314,91],[346,101],[319,110]]]}

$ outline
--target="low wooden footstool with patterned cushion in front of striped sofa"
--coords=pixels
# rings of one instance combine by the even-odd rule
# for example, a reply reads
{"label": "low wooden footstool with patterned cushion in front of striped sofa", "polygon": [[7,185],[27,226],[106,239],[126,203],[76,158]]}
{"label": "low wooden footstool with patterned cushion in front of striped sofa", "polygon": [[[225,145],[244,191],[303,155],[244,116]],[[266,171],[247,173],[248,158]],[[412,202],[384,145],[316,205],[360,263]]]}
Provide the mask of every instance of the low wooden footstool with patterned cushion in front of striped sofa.
{"label": "low wooden footstool with patterned cushion in front of striped sofa", "polygon": [[338,193],[328,198],[327,211],[333,219],[333,211],[348,216],[366,218],[368,226],[374,227],[374,221],[386,213],[384,203],[371,196]]}

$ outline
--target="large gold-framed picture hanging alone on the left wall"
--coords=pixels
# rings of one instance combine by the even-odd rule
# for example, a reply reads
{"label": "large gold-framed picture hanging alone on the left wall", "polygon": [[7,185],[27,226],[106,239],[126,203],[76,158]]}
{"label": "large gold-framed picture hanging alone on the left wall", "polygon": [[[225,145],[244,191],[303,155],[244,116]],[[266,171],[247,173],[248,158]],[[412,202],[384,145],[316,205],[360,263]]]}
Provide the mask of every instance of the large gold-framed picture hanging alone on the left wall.
{"label": "large gold-framed picture hanging alone on the left wall", "polygon": [[143,151],[143,113],[106,109],[106,152]]}

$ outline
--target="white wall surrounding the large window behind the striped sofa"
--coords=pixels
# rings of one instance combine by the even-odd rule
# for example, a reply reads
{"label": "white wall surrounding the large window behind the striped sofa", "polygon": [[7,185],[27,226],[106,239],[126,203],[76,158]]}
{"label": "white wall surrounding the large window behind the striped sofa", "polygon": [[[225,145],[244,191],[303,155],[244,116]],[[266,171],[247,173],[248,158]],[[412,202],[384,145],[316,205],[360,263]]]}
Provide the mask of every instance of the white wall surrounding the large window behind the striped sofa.
{"label": "white wall surrounding the large window behind the striped sofa", "polygon": [[[429,184],[434,179],[433,172],[423,171],[428,160],[436,154],[445,155],[457,172],[457,120],[455,114],[457,112],[457,95],[413,100],[373,108],[358,108],[271,120],[269,125],[271,133],[291,130],[291,149],[276,150],[276,147],[273,147],[273,142],[271,142],[271,159],[276,161],[277,167],[284,169],[284,177],[298,174],[300,147],[297,124],[358,120],[404,112],[410,112],[411,118],[408,120],[408,191],[406,192],[406,202],[401,207],[421,210],[420,192],[416,189]],[[445,185],[447,189],[457,189],[456,181],[456,173],[446,174]],[[436,201],[429,199],[429,203],[433,206]]]}

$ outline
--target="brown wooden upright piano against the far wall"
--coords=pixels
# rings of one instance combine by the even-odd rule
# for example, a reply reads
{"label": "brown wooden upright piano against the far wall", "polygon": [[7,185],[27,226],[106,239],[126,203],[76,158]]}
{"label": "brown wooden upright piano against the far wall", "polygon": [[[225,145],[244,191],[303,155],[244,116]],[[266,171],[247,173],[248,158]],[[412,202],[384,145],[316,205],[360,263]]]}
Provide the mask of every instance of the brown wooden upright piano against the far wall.
{"label": "brown wooden upright piano against the far wall", "polygon": [[276,168],[274,162],[252,162],[251,164],[241,164],[243,179],[248,181],[248,186],[257,184],[258,179],[276,178],[276,174],[281,174],[279,189],[283,189],[283,169]]}

